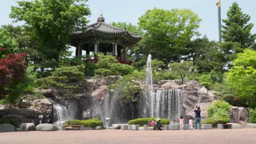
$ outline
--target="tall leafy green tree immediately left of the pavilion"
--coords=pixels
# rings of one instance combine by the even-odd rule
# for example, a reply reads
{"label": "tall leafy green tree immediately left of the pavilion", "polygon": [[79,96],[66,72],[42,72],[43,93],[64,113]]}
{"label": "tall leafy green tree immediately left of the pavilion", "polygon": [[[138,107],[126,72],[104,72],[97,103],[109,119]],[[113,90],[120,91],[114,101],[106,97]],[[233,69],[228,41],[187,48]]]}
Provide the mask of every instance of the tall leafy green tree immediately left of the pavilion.
{"label": "tall leafy green tree immediately left of the pavilion", "polygon": [[86,28],[90,15],[86,0],[20,1],[11,7],[10,17],[25,21],[25,26],[38,42],[38,50],[59,64],[60,53],[68,49],[69,35],[76,29]]}

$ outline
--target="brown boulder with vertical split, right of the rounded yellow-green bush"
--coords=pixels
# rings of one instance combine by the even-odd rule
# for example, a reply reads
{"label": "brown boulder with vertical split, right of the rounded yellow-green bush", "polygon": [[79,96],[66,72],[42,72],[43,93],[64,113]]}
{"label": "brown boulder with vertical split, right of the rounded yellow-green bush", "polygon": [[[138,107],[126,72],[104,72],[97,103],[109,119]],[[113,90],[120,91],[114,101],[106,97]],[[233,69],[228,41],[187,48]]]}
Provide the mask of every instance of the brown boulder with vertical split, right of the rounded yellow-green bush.
{"label": "brown boulder with vertical split, right of the rounded yellow-green bush", "polygon": [[239,121],[248,122],[249,112],[246,107],[233,106],[230,109],[231,113],[231,123],[239,123]]}

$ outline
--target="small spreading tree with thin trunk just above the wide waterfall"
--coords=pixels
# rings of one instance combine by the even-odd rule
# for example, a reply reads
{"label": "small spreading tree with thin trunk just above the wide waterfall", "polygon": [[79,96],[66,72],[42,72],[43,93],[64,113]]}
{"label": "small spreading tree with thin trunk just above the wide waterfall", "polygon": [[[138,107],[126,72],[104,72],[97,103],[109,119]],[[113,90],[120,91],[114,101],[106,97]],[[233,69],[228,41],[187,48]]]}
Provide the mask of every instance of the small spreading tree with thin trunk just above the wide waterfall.
{"label": "small spreading tree with thin trunk just above the wide waterfall", "polygon": [[181,78],[181,84],[184,83],[184,79],[186,76],[196,72],[196,67],[191,61],[170,63],[169,68],[174,74],[178,75]]}

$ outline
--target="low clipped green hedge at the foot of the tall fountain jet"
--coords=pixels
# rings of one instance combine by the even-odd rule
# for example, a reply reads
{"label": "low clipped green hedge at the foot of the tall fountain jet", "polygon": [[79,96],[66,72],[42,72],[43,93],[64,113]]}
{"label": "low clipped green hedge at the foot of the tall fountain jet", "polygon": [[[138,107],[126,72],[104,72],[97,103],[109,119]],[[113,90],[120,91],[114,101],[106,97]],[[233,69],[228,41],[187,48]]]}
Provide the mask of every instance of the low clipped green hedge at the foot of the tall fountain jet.
{"label": "low clipped green hedge at the foot of the tall fountain jet", "polygon": [[[134,125],[139,125],[143,126],[145,124],[149,124],[152,120],[155,120],[156,118],[137,118],[137,119],[132,119],[128,122],[128,124],[134,124]],[[161,118],[160,121],[162,124],[170,124],[170,120],[166,118]]]}

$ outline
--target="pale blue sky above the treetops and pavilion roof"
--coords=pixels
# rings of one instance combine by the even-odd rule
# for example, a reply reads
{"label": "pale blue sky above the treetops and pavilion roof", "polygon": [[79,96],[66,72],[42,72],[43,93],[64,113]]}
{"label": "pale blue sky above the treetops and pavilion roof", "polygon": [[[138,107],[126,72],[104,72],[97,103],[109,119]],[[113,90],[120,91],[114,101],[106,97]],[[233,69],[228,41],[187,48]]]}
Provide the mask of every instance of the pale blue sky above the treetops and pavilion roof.
{"label": "pale blue sky above the treetops and pavilion roof", "polygon": [[[31,1],[31,0],[27,0]],[[127,22],[137,25],[138,18],[146,10],[154,7],[160,9],[191,9],[202,19],[198,31],[201,36],[207,35],[210,40],[218,41],[218,0],[88,0],[91,15],[90,23],[97,21],[98,14],[102,11],[105,22]],[[222,19],[226,19],[226,12],[233,2],[237,2],[243,13],[251,16],[252,23],[256,24],[255,0],[222,0]],[[0,0],[0,25],[12,23],[9,18],[11,5],[17,5],[16,0]],[[22,22],[15,23],[22,25]],[[252,29],[256,33],[256,25]]]}

